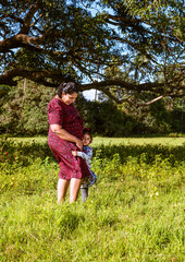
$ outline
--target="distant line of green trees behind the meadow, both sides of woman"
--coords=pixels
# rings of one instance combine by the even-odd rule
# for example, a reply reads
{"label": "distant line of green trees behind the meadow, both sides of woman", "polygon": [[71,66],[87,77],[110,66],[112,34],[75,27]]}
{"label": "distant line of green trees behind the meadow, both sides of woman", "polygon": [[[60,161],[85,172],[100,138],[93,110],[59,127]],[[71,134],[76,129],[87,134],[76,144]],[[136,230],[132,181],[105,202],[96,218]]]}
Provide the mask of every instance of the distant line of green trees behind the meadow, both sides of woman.
{"label": "distant line of green trees behind the meadow, both sides of woman", "polygon": [[[47,135],[47,106],[55,88],[38,85],[26,79],[16,87],[0,87],[0,133]],[[145,96],[145,97],[143,97]],[[152,98],[150,93],[139,99]],[[103,94],[87,100],[81,93],[75,103],[86,127],[95,134],[124,136],[147,133],[182,133],[185,130],[183,98],[168,97],[147,107],[115,104]]]}

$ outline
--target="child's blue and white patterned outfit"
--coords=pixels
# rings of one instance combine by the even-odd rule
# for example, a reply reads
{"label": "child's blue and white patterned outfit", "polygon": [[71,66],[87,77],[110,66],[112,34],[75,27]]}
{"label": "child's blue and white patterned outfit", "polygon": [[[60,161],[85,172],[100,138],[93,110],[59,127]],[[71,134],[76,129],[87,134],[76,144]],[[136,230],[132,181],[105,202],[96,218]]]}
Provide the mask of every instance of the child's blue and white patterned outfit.
{"label": "child's blue and white patterned outfit", "polygon": [[84,158],[86,160],[88,169],[89,169],[91,176],[84,180],[84,182],[81,186],[81,188],[89,188],[97,180],[97,176],[90,169],[90,158],[92,157],[92,148],[90,146],[86,145],[86,146],[83,146],[83,151],[84,152],[77,151],[77,156],[81,156],[82,158]]}

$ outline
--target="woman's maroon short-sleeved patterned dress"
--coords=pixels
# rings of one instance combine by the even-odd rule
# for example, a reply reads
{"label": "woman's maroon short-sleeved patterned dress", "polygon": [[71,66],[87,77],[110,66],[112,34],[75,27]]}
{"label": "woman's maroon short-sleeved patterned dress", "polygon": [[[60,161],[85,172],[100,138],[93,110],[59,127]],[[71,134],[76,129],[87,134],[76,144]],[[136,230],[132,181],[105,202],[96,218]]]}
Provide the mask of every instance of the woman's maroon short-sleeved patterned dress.
{"label": "woman's maroon short-sleeved patterned dress", "polygon": [[[82,140],[83,120],[73,104],[65,105],[63,102],[52,98],[48,105],[48,119],[49,124],[59,124]],[[62,140],[49,128],[48,144],[60,165],[60,178],[70,180],[90,176],[86,162],[82,157],[72,155],[72,151],[79,151],[75,143]]]}

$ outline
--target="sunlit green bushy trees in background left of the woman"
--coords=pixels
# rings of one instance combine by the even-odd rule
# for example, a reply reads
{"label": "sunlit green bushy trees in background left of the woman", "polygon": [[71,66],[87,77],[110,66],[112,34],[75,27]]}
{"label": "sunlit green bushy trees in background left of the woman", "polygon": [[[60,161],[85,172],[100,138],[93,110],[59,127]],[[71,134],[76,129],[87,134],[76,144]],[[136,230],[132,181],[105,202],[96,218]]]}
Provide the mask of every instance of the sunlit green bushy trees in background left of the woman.
{"label": "sunlit green bushy trees in background left of the woman", "polygon": [[21,81],[0,104],[0,133],[38,135],[48,133],[47,107],[55,88]]}

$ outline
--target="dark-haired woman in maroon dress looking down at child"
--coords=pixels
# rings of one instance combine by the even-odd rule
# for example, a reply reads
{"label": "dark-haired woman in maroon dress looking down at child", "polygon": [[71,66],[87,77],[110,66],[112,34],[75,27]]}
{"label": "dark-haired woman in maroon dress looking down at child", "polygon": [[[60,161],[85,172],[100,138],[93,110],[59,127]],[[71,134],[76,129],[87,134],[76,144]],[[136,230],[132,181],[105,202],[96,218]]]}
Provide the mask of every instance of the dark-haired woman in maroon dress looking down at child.
{"label": "dark-haired woman in maroon dress looking down at child", "polygon": [[90,176],[86,162],[72,155],[83,148],[83,120],[73,106],[78,91],[73,82],[62,83],[48,105],[48,144],[59,165],[58,203],[65,199],[70,186],[70,203],[77,200],[83,178]]}

